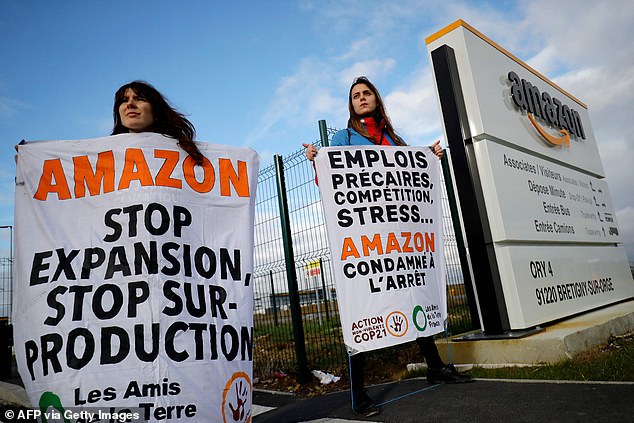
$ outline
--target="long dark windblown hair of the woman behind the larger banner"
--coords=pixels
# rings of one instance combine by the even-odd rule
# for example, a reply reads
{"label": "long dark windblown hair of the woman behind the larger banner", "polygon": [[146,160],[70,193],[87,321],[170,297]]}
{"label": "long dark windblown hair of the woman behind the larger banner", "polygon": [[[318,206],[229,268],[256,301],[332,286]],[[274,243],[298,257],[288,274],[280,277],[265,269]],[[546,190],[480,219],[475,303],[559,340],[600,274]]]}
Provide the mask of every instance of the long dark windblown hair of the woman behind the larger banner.
{"label": "long dark windblown hair of the woman behind the larger banner", "polygon": [[204,156],[196,146],[196,143],[194,143],[196,138],[194,125],[182,113],[177,112],[163,94],[145,81],[130,82],[123,85],[115,93],[112,111],[114,127],[111,135],[130,132],[128,128],[123,126],[121,116],[119,116],[119,106],[125,101],[125,93],[128,88],[152,105],[154,124],[150,131],[178,140],[178,145],[194,159],[196,164],[202,165]]}

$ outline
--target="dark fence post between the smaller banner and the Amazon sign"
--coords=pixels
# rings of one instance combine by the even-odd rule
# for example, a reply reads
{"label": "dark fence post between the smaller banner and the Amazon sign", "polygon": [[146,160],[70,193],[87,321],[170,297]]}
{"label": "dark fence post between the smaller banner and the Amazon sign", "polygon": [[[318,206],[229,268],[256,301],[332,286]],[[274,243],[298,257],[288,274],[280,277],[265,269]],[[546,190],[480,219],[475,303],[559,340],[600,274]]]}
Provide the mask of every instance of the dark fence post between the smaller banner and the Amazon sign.
{"label": "dark fence post between the smaller banner and the Amazon sign", "polygon": [[453,179],[451,177],[451,167],[447,152],[442,155],[440,160],[442,165],[442,173],[445,179],[445,189],[447,190],[447,201],[449,202],[449,210],[451,211],[451,223],[453,231],[456,234],[456,247],[458,248],[458,257],[460,257],[460,269],[462,270],[462,279],[464,280],[465,293],[467,294],[467,303],[469,304],[469,314],[471,315],[471,325],[474,329],[480,327],[480,319],[478,318],[477,301],[475,292],[473,291],[473,282],[471,280],[471,271],[469,270],[469,259],[467,258],[467,248],[465,247],[464,237],[462,236],[462,227],[460,226],[460,213],[458,213],[458,203],[456,201],[456,193],[453,190]]}

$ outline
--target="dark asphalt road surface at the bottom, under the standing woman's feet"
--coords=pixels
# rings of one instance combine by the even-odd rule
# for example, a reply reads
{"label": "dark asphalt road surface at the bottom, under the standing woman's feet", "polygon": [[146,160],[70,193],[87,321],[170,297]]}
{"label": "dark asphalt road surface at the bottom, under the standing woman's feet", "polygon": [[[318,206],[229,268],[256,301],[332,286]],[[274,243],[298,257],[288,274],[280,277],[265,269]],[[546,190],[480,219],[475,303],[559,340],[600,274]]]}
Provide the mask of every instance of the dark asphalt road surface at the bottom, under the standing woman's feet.
{"label": "dark asphalt road surface at the bottom, under the standing woman's feet", "polygon": [[300,398],[256,391],[271,407],[253,423],[285,422],[634,422],[634,383],[477,380],[429,385],[410,379],[368,388],[381,414],[355,415],[348,391]]}

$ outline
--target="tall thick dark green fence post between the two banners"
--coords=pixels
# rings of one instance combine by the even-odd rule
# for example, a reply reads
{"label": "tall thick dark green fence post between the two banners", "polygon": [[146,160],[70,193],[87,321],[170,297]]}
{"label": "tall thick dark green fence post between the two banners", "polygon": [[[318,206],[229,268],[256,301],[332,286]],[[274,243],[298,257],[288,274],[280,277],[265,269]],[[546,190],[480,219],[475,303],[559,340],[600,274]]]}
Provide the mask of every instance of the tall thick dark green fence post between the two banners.
{"label": "tall thick dark green fence post between the two banners", "polygon": [[293,335],[295,337],[295,356],[297,359],[297,381],[308,382],[309,372],[306,359],[306,344],[304,341],[304,327],[302,324],[302,310],[299,303],[297,288],[297,272],[295,270],[295,256],[291,239],[291,224],[288,214],[288,200],[286,198],[286,181],[284,179],[284,161],[282,156],[273,156],[275,174],[277,176],[277,197],[280,206],[280,222],[282,224],[282,239],[284,243],[284,258],[286,261],[286,277],[288,280],[288,299],[291,307]]}

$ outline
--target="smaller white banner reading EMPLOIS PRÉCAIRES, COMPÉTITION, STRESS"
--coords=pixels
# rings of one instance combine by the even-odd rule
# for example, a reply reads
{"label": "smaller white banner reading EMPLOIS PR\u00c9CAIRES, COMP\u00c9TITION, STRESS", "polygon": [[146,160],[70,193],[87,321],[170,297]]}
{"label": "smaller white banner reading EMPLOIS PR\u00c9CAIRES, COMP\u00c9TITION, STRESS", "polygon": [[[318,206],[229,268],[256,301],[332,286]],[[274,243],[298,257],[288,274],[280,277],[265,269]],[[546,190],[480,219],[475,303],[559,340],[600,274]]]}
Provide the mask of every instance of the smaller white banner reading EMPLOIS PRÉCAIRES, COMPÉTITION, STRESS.
{"label": "smaller white banner reading EMPLOIS PR\u00c9CAIRES, COMP\u00c9TITION, STRESS", "polygon": [[315,161],[346,347],[429,336],[447,316],[440,160],[427,147],[325,147]]}

